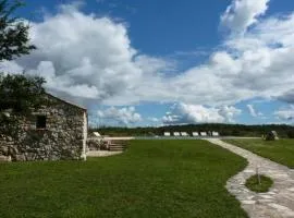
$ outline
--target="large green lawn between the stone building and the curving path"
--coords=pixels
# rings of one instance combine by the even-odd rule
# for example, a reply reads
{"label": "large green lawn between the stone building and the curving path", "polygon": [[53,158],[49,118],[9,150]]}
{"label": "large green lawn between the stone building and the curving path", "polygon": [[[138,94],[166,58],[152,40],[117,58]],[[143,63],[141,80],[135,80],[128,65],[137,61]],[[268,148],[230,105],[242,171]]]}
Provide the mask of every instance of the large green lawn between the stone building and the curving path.
{"label": "large green lawn between the stone building and the curving path", "polygon": [[226,180],[246,160],[206,141],[132,141],[119,156],[0,165],[0,217],[247,217]]}

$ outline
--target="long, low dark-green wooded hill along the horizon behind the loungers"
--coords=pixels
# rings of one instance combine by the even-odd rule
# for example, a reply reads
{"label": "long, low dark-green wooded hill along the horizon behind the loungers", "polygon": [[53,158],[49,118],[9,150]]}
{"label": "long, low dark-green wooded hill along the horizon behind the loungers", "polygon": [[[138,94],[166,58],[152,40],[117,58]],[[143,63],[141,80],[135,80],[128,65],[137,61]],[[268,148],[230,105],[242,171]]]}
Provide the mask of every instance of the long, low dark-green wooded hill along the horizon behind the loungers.
{"label": "long, low dark-green wooded hill along the horizon behind the loungers", "polygon": [[285,124],[269,125],[244,125],[244,124],[223,124],[223,123],[205,123],[205,124],[186,124],[186,125],[167,125],[160,128],[119,128],[101,126],[90,129],[109,136],[152,136],[163,135],[164,132],[208,132],[217,131],[222,136],[261,136],[269,131],[277,131],[280,137],[294,137],[294,126]]}

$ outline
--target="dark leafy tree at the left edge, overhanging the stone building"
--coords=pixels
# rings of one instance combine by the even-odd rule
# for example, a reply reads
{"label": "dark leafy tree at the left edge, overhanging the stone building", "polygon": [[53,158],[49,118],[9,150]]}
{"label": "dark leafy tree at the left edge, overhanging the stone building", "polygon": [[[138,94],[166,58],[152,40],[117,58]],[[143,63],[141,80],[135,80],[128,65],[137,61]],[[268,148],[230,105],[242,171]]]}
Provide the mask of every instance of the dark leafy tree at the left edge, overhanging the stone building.
{"label": "dark leafy tree at the left edge, overhanging the stone building", "polygon": [[[0,63],[28,55],[36,47],[29,44],[29,26],[25,21],[13,16],[13,12],[23,5],[0,0]],[[17,116],[29,113],[42,102],[45,80],[24,74],[0,73],[0,136],[12,135],[17,128]]]}

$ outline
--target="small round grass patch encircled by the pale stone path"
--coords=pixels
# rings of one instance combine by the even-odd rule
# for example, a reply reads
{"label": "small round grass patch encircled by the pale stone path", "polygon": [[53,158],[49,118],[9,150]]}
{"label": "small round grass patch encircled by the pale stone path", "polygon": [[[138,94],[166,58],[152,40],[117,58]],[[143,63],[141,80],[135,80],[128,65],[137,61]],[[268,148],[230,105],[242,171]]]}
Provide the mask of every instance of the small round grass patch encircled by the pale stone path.
{"label": "small round grass patch encircled by the pale stone path", "polygon": [[268,192],[271,185],[273,184],[273,181],[264,174],[260,174],[259,178],[260,183],[258,181],[257,174],[252,175],[249,179],[246,180],[245,183],[246,187],[258,193]]}

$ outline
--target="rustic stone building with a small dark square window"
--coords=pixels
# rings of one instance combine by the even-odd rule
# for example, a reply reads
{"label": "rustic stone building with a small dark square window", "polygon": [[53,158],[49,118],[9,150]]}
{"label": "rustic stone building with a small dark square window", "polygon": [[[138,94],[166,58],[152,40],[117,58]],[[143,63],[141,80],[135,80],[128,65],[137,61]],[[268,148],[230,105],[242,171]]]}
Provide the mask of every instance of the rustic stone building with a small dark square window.
{"label": "rustic stone building with a small dark square window", "polygon": [[0,156],[14,161],[86,159],[87,110],[50,94],[46,104],[17,118],[15,137],[0,135]]}

